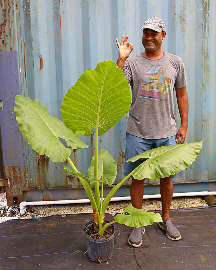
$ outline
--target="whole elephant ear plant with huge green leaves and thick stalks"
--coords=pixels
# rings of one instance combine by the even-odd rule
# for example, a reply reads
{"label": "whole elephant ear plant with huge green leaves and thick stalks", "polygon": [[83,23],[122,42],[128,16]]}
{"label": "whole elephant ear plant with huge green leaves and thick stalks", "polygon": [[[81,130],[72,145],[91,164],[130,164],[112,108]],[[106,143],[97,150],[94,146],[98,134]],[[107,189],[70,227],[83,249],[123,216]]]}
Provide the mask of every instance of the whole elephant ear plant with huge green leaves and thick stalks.
{"label": "whole elephant ear plant with huge green leaves and thick stalks", "polygon": [[[104,214],[114,193],[131,176],[136,179],[168,177],[185,169],[198,156],[202,142],[162,146],[141,153],[126,162],[138,159],[143,162],[116,184],[103,199],[103,184],[112,185],[117,174],[116,161],[107,150],[98,149],[98,137],[115,126],[129,111],[130,87],[120,69],[112,61],[98,63],[93,70],[86,70],[76,84],[69,88],[62,102],[62,121],[47,112],[47,107],[38,100],[21,95],[15,98],[17,123],[23,137],[40,155],[46,154],[54,162],[68,160],[70,174],[77,176],[89,197],[93,208],[95,230],[103,235],[107,226],[114,222],[130,227],[162,222],[160,214],[127,206],[129,215],[117,214],[114,221],[104,222]],[[88,177],[79,172],[70,159],[71,150],[59,137],[65,139],[72,149],[87,148],[79,134],[89,136],[95,129],[95,155],[88,168]],[[101,188],[99,184],[102,183]],[[94,188],[94,193],[93,193]]]}

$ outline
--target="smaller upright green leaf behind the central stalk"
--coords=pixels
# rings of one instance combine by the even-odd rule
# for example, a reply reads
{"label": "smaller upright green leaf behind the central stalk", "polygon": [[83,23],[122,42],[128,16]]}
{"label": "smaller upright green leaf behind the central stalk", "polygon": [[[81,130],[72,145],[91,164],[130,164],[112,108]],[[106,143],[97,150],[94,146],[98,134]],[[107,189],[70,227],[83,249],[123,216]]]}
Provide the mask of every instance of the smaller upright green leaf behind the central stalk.
{"label": "smaller upright green leaf behind the central stalk", "polygon": [[[117,164],[114,158],[109,154],[107,150],[100,149],[98,151],[98,178],[103,175],[103,182],[107,185],[112,185],[116,179]],[[95,172],[95,156],[92,157],[91,164],[88,168],[89,178],[94,178]],[[91,182],[91,187],[94,187],[94,183]]]}

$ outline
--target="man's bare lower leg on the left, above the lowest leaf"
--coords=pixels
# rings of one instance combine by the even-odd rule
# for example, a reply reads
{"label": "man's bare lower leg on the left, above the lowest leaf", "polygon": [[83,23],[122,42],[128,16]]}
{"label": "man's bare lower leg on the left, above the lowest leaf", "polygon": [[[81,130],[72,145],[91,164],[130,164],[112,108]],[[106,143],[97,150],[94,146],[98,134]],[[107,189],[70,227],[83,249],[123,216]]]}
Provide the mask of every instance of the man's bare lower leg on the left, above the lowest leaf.
{"label": "man's bare lower leg on the left, above the lowest leaf", "polygon": [[143,184],[144,180],[137,180],[132,178],[130,186],[130,198],[133,207],[142,209],[143,207]]}

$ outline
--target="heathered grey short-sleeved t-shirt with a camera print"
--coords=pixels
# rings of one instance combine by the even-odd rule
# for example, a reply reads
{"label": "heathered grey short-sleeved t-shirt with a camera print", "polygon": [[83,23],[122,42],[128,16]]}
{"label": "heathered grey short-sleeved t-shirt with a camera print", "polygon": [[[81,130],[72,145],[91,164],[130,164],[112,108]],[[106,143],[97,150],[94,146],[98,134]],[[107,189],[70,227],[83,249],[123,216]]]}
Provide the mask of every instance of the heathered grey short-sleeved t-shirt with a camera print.
{"label": "heathered grey short-sleeved t-shirt with a camera print", "polygon": [[181,58],[164,52],[149,59],[140,53],[126,60],[123,72],[132,89],[126,132],[145,139],[177,134],[173,91],[187,86]]}

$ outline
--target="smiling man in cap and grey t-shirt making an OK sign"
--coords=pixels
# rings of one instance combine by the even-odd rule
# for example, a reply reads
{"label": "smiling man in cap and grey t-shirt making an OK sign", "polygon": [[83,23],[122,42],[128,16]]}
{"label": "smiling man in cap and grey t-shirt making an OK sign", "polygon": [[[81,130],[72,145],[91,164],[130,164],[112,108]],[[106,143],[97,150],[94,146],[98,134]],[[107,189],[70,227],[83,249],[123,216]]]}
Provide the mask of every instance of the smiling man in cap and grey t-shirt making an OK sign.
{"label": "smiling man in cap and grey t-shirt making an OK sign", "polygon": [[[149,18],[142,28],[143,53],[128,58],[133,44],[127,43],[128,36],[119,44],[117,65],[123,69],[124,75],[131,85],[132,102],[126,129],[126,157],[136,156],[144,151],[164,146],[184,143],[188,127],[188,97],[185,79],[185,68],[180,57],[161,50],[166,36],[163,20]],[[140,30],[141,30],[140,29]],[[176,89],[181,127],[177,132],[174,116],[173,91]],[[125,164],[124,175],[129,174],[142,161]],[[166,231],[171,240],[181,239],[180,232],[169,219],[170,205],[173,196],[172,178],[176,175],[160,179],[160,194],[163,223],[159,227]],[[133,207],[142,209],[143,180],[132,178],[130,196]],[[128,242],[139,247],[143,240],[145,228],[133,228]]]}

